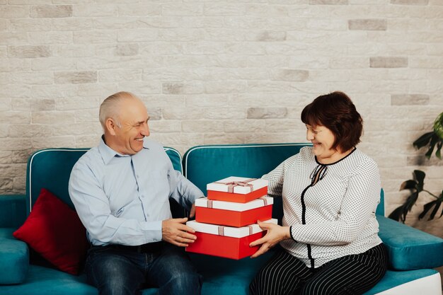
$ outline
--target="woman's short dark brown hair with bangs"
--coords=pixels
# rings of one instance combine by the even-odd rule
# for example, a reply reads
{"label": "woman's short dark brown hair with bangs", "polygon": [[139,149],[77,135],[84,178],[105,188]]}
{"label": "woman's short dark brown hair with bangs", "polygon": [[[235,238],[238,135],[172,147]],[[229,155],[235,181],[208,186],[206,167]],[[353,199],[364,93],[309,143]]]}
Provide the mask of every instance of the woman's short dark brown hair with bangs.
{"label": "woman's short dark brown hair with bangs", "polygon": [[360,142],[363,120],[351,99],[343,92],[335,91],[318,96],[301,112],[304,124],[324,126],[335,136],[333,149],[347,151]]}

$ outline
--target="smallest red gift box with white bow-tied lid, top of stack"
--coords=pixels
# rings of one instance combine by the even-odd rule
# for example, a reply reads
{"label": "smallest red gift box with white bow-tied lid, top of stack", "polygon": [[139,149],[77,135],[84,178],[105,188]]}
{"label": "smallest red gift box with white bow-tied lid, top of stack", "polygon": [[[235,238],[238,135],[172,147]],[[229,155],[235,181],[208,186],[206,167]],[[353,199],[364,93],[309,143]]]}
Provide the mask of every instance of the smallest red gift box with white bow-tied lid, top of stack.
{"label": "smallest red gift box with white bow-tied lid, top of stack", "polygon": [[207,198],[246,203],[267,194],[267,180],[231,176],[206,185]]}

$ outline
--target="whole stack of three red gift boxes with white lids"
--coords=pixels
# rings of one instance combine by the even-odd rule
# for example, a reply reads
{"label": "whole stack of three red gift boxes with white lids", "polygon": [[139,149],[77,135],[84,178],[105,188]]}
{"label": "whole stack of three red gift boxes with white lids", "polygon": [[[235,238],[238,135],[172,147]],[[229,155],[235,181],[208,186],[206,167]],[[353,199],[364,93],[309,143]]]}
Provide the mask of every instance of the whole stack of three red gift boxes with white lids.
{"label": "whole stack of three red gift boxes with white lids", "polygon": [[265,233],[257,220],[277,224],[272,217],[272,197],[267,197],[267,180],[231,176],[207,185],[207,197],[195,200],[197,240],[188,252],[241,259],[253,255],[259,246],[249,243]]}

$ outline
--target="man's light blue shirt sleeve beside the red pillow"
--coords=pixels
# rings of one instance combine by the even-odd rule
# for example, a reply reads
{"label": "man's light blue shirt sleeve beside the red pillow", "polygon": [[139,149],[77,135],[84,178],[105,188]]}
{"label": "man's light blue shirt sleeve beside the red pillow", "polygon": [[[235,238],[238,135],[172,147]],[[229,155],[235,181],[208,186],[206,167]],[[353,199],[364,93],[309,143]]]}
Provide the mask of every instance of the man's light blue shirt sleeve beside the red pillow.
{"label": "man's light blue shirt sleeve beside the red pillow", "polygon": [[161,241],[161,221],[138,221],[111,214],[100,180],[85,163],[77,163],[71,171],[69,195],[93,245]]}

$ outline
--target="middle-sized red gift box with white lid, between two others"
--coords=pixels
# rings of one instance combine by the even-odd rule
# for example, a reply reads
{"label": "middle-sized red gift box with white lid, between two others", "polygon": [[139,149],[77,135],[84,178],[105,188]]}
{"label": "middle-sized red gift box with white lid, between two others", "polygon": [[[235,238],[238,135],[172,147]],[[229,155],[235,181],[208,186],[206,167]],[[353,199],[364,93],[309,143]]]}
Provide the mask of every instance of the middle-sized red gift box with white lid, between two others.
{"label": "middle-sized red gift box with white lid, between two others", "polygon": [[205,197],[195,200],[195,220],[222,226],[246,226],[272,217],[272,197],[260,197],[247,203],[212,201]]}

